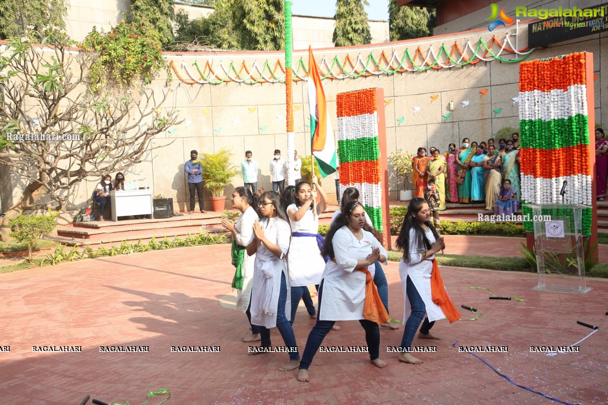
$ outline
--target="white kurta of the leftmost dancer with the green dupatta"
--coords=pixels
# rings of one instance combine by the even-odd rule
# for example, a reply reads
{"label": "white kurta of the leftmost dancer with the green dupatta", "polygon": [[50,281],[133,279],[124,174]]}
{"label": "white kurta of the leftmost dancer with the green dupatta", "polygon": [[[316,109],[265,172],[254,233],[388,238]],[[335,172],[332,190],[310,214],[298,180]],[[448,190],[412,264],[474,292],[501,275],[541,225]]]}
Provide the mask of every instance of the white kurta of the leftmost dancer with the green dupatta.
{"label": "white kurta of the leftmost dancer with the green dupatta", "polygon": [[[235,225],[235,229],[237,230],[235,240],[239,245],[246,247],[253,239],[256,219],[258,219],[258,214],[252,207],[247,208],[243,214],[238,216],[237,225]],[[237,290],[237,310],[247,312],[254,280],[255,254],[253,256],[247,255],[247,252],[244,252],[244,254],[243,267],[241,268],[243,273],[243,288]]]}

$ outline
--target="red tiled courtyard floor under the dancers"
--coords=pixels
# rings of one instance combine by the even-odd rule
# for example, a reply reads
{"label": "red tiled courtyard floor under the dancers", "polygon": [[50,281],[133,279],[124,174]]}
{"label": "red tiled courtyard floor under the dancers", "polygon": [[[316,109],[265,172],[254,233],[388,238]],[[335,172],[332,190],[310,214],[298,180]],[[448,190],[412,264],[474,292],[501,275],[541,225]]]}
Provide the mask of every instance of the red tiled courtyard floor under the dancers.
{"label": "red tiled courtyard floor under the dancers", "polygon": [[[447,252],[446,252],[447,253]],[[492,372],[458,345],[508,345],[482,353],[519,384],[567,403],[602,404],[608,398],[608,282],[589,279],[586,295],[532,291],[533,273],[442,269],[457,306],[484,314],[477,321],[438,321],[437,353],[424,364],[397,361],[377,369],[365,353],[317,353],[311,382],[280,372],[286,354],[248,356],[243,313],[223,308],[233,267],[229,246],[181,248],[106,257],[0,274],[0,404],[80,404],[86,395],[140,404],[166,388],[165,404],[552,404]],[[403,311],[398,264],[386,270],[392,318]],[[490,301],[490,288],[525,302]],[[464,310],[463,310],[464,311]],[[464,315],[464,314],[463,314]],[[471,315],[468,313],[466,315]],[[467,316],[472,318],[472,316]],[[598,325],[580,352],[546,356],[530,345],[570,345]],[[303,349],[313,326],[299,313],[294,328]],[[364,345],[358,322],[340,322],[324,345]],[[402,329],[381,328],[381,347],[399,345]],[[282,345],[272,333],[273,344]],[[429,342],[415,339],[415,345]],[[32,353],[33,345],[81,345],[81,353]],[[148,345],[148,353],[100,353],[100,345]],[[171,353],[171,345],[219,345],[219,353]],[[157,404],[153,400],[150,404]],[[89,404],[91,402],[89,401]]]}

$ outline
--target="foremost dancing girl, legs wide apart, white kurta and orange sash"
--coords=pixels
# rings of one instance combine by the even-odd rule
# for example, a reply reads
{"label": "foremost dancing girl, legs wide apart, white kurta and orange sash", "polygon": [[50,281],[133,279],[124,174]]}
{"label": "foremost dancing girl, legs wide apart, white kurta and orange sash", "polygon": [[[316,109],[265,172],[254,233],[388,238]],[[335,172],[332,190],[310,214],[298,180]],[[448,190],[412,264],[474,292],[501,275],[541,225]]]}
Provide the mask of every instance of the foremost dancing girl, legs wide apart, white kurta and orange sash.
{"label": "foremost dancing girl, legs wide apart, white kurta and orange sash", "polygon": [[[366,274],[358,269],[366,269],[373,277],[374,263],[376,260],[385,262],[387,252],[373,234],[362,229],[365,209],[359,202],[348,203],[342,213],[344,215],[337,217],[331,225],[323,246],[323,254],[330,260],[323,271],[319,287],[319,314],[300,361],[299,381],[308,381],[308,367],[335,321],[361,322],[371,362],[377,367],[386,366],[386,362],[379,359],[378,324],[363,316]],[[373,283],[371,279],[370,283]]]}

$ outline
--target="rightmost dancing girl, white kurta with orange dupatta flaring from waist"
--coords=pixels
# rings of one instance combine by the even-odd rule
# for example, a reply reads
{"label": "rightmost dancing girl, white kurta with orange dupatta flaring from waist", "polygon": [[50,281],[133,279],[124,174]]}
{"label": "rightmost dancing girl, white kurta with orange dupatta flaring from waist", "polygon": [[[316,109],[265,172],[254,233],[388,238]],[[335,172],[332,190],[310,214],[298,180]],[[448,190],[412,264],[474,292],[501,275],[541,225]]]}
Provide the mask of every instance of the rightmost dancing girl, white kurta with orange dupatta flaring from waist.
{"label": "rightmost dancing girl, white kurta with orange dupatta flaring from waist", "polygon": [[423,361],[412,356],[409,350],[424,313],[427,318],[418,333],[421,339],[440,339],[430,333],[430,328],[438,319],[447,318],[452,323],[460,318],[460,313],[447,295],[435,260],[435,253],[443,251],[446,245],[430,223],[429,205],[423,199],[413,198],[410,201],[396,245],[403,249],[399,276],[406,304],[399,361],[422,364]]}

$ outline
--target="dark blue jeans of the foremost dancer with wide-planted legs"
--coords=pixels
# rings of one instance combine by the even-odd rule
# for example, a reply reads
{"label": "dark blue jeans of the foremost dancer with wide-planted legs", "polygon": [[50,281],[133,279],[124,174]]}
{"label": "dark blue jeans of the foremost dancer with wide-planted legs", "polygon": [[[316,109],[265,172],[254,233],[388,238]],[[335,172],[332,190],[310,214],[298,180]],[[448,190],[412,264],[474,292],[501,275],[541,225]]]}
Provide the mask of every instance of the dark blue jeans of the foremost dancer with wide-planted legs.
{"label": "dark blue jeans of the foremost dancer with wide-planted legs", "polygon": [[[306,347],[302,355],[302,361],[300,361],[300,370],[308,370],[311,362],[325,336],[330,333],[331,327],[333,327],[336,321],[321,321],[321,296],[323,294],[323,281],[319,287],[319,313],[317,314],[317,323],[308,335],[306,341]],[[375,360],[380,356],[380,330],[376,322],[368,321],[367,319],[360,319],[359,323],[365,329],[365,341],[370,352],[370,360]]]}

